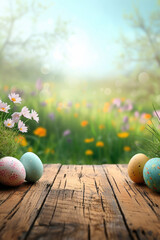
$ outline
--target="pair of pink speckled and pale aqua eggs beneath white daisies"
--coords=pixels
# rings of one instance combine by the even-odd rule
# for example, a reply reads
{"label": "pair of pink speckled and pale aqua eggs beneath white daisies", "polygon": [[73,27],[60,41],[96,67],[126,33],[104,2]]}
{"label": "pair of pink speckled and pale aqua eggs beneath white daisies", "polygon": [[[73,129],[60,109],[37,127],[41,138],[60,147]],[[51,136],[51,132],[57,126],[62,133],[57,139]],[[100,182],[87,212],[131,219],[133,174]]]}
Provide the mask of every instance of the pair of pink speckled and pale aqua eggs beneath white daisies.
{"label": "pair of pink speckled and pale aqua eggs beneath white daisies", "polygon": [[0,183],[7,186],[19,186],[25,180],[36,182],[43,174],[43,164],[40,158],[32,153],[26,152],[18,160],[14,157],[3,157],[0,159]]}

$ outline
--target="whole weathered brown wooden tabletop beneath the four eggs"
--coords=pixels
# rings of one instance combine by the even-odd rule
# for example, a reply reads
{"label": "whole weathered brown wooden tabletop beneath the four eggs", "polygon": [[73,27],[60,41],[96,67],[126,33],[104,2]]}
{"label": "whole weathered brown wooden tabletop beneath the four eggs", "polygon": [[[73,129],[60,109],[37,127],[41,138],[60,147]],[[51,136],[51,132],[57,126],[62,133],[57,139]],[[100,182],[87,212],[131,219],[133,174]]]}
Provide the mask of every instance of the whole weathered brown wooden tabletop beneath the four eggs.
{"label": "whole weathered brown wooden tabletop beneath the four eggs", "polygon": [[160,194],[127,165],[44,165],[42,178],[0,185],[0,239],[160,239]]}

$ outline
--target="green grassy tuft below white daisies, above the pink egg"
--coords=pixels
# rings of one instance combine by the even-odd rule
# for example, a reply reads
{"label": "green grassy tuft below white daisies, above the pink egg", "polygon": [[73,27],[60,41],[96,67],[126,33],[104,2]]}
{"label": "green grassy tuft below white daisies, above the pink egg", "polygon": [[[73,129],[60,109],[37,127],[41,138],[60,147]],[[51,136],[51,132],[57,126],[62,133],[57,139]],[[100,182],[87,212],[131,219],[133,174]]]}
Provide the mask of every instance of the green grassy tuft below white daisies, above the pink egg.
{"label": "green grassy tuft below white daisies, above the pink egg", "polygon": [[16,136],[17,132],[0,123],[0,158],[5,156],[17,157],[19,143],[15,141]]}

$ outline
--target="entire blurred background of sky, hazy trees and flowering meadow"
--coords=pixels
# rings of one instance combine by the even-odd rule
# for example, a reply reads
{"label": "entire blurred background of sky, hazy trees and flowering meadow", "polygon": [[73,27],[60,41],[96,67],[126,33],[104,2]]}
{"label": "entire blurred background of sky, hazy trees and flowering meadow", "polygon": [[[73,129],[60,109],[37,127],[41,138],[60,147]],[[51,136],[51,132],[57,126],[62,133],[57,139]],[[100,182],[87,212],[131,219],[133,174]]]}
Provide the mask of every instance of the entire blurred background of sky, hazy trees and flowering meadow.
{"label": "entire blurred background of sky, hazy trees and flowering meadow", "polygon": [[127,163],[160,109],[160,1],[0,2],[1,99],[19,93],[40,117],[19,154]]}

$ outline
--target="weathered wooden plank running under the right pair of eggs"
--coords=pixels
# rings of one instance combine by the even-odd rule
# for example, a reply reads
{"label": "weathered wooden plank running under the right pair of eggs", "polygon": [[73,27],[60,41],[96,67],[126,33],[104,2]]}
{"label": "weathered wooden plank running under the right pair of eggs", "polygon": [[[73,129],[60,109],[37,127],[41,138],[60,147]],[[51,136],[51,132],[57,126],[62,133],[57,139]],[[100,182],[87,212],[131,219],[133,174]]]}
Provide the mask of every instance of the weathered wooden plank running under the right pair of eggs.
{"label": "weathered wooden plank running under the right pair of eggs", "polygon": [[120,211],[134,239],[160,239],[160,196],[133,183],[126,165],[103,165]]}

